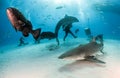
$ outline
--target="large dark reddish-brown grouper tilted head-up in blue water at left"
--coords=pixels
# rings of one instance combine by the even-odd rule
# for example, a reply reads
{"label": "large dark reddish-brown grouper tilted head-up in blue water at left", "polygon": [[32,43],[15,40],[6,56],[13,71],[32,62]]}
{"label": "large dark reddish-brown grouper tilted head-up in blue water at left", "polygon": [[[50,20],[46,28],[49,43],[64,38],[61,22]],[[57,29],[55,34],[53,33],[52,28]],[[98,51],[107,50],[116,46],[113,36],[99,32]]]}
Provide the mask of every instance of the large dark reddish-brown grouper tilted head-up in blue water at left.
{"label": "large dark reddish-brown grouper tilted head-up in blue water at left", "polygon": [[32,30],[31,22],[27,20],[18,9],[13,7],[7,8],[7,16],[16,31],[21,31],[25,37],[31,33],[35,40],[38,39],[41,29]]}

